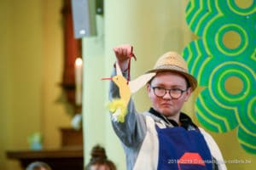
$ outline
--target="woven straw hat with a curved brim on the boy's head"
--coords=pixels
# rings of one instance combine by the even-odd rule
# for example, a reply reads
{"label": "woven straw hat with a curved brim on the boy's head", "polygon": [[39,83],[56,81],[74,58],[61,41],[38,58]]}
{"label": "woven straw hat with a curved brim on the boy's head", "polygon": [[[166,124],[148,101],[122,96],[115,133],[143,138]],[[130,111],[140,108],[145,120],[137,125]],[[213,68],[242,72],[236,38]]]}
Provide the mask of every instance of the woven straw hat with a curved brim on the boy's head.
{"label": "woven straw hat with a curved brim on the boy's head", "polygon": [[180,54],[177,54],[177,52],[171,51],[163,54],[159,59],[157,59],[154,68],[147,71],[147,73],[157,73],[160,71],[172,71],[181,74],[188,80],[189,86],[192,88],[192,91],[194,91],[197,86],[197,81],[195,77],[189,74],[189,69],[186,61]]}

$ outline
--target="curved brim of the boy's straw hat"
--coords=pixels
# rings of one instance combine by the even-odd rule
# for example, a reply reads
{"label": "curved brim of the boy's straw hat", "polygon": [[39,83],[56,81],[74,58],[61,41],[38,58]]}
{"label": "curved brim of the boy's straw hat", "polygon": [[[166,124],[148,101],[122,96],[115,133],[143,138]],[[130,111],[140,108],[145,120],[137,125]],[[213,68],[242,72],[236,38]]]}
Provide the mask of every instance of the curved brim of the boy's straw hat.
{"label": "curved brim of the boy's straw hat", "polygon": [[189,82],[189,87],[192,88],[192,91],[194,91],[195,88],[197,87],[197,80],[195,79],[195,77],[193,77],[189,73],[183,71],[182,69],[177,69],[177,68],[175,68],[175,69],[174,68],[173,69],[172,68],[168,68],[168,69],[166,69],[166,68],[157,68],[157,69],[149,70],[146,73],[149,73],[149,72],[158,73],[158,72],[166,72],[166,71],[175,72],[175,73],[180,74],[183,77],[185,77],[187,79],[187,81]]}

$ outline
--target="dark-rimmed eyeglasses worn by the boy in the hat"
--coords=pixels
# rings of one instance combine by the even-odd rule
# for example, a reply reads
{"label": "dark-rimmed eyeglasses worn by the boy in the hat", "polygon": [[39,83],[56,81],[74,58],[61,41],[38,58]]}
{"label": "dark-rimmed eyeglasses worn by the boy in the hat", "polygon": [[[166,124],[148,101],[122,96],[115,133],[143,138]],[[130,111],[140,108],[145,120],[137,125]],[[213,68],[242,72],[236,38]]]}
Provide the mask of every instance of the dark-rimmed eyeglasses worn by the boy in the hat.
{"label": "dark-rimmed eyeglasses worn by the boy in the hat", "polygon": [[164,97],[168,91],[172,99],[179,99],[183,95],[183,93],[187,91],[187,89],[182,90],[179,88],[170,88],[170,89],[162,88],[162,87],[151,87],[151,88],[154,91],[154,95],[159,98]]}

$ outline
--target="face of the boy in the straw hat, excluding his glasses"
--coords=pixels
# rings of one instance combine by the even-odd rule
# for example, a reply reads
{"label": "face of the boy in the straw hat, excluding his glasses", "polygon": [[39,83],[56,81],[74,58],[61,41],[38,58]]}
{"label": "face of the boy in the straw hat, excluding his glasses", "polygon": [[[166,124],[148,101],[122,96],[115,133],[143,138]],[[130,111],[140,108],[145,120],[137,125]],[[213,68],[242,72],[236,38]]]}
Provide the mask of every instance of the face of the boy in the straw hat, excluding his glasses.
{"label": "face of the boy in the straw hat, excluding his glasses", "polygon": [[[152,87],[181,89],[186,91],[183,92],[178,99],[172,99],[169,93],[166,93],[163,97],[157,97],[154,94]],[[157,73],[151,83],[148,84],[147,91],[154,110],[159,111],[161,114],[169,118],[179,116],[184,102],[189,99],[191,94],[191,88],[188,88],[187,90],[187,82],[185,78],[170,71]]]}

